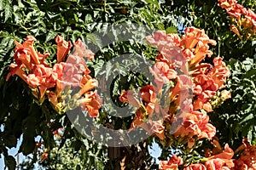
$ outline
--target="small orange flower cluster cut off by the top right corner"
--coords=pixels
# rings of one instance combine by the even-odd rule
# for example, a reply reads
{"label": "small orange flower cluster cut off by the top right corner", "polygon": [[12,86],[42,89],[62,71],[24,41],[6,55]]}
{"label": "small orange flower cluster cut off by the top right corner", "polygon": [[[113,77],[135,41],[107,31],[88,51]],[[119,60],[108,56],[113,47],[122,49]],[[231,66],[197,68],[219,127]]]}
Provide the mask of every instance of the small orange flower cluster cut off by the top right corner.
{"label": "small orange flower cluster cut off by the top right corner", "polygon": [[244,8],[236,0],[218,0],[218,6],[224,8],[230,15],[234,24],[230,30],[238,37],[244,36],[246,39],[256,37],[256,14],[250,8]]}

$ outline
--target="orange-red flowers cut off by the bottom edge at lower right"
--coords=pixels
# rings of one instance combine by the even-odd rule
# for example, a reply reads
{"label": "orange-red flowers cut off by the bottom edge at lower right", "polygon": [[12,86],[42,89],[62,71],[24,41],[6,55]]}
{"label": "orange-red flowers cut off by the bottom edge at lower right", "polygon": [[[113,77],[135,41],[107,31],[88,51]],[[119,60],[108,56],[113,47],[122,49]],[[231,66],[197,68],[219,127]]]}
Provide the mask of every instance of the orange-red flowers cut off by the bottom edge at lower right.
{"label": "orange-red flowers cut off by the bottom edge at lower right", "polygon": [[[178,166],[183,165],[183,170],[253,170],[256,169],[256,147],[243,139],[241,146],[234,152],[228,144],[225,144],[224,150],[218,143],[218,139],[212,139],[212,150],[205,150],[204,158],[195,164],[183,165],[183,159],[173,155],[169,161],[160,161],[160,170],[177,170]],[[239,153],[238,158],[234,159],[235,153]]]}

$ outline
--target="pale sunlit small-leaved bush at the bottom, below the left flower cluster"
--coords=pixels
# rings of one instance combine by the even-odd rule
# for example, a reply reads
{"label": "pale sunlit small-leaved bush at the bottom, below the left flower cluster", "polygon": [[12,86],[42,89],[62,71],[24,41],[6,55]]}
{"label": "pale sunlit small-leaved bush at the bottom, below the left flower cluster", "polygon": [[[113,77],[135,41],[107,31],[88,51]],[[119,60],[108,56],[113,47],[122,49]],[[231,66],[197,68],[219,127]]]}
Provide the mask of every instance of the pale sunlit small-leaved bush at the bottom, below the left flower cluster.
{"label": "pale sunlit small-leaved bush at the bottom, below the left flower cluster", "polygon": [[49,151],[49,158],[40,161],[39,165],[47,169],[103,169],[107,162],[106,152],[100,145],[93,144],[88,139],[67,140],[60,148],[57,142],[55,148]]}

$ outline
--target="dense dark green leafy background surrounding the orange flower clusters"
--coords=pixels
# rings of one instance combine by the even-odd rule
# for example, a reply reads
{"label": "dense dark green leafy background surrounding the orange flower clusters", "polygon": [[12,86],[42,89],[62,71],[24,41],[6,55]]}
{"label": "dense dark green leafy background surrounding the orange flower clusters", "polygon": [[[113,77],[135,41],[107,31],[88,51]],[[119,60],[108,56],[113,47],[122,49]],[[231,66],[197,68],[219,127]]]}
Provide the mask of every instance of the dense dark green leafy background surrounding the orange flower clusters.
{"label": "dense dark green leafy background surrounding the orange flower clusters", "polygon": [[[254,0],[243,0],[238,3],[256,10]],[[38,106],[32,99],[30,90],[20,78],[11,77],[9,82],[5,80],[9,72],[9,64],[13,61],[15,40],[21,42],[26,35],[32,35],[38,40],[36,42],[38,50],[42,53],[49,52],[53,57],[56,35],[59,34],[73,42],[79,37],[82,40],[86,37],[96,46],[100,46],[101,40],[91,33],[104,31],[113,23],[137,23],[151,29],[178,32],[181,35],[184,28],[188,26],[205,29],[207,35],[217,41],[217,45],[212,47],[213,57],[224,57],[231,71],[226,87],[230,90],[232,97],[215,108],[210,115],[212,124],[218,128],[218,139],[223,145],[229,143],[232,149],[236,149],[244,137],[247,137],[251,144],[256,144],[256,40],[240,39],[230,31],[230,17],[223,8],[218,7],[217,1],[2,0],[0,22],[0,124],[2,127],[0,153],[9,169],[15,169],[17,165],[15,158],[8,155],[8,150],[16,146],[21,134],[23,139],[19,152],[25,156],[32,154],[32,163],[39,158],[38,152],[35,151],[38,147],[35,142],[37,136],[44,140],[44,149],[53,149],[49,151],[48,159],[40,161],[43,167],[119,168],[117,166],[122,156],[108,157],[110,151],[108,147],[84,139],[71,126],[67,115],[60,115],[49,109],[49,103]],[[114,42],[115,40],[112,45],[101,48],[96,53],[95,60],[90,62],[92,74],[97,73],[102,63],[126,52],[154,60],[152,56],[153,53],[156,54],[154,48],[135,42]],[[115,102],[118,102],[121,89],[147,83],[146,80],[142,82],[141,77],[135,74],[123,75],[123,78],[115,81],[117,85],[113,87],[112,96]],[[54,123],[49,126],[52,120]],[[120,119],[103,113],[99,120],[115,128],[129,127],[131,123],[131,117]],[[109,122],[109,120],[112,121]],[[56,139],[52,132],[59,127],[65,127],[65,130],[61,139]],[[147,146],[152,142],[153,137],[150,137],[141,144],[126,148],[125,154],[129,159],[126,159],[125,166],[129,169],[157,168],[148,154]],[[60,155],[56,147],[62,147],[59,150]],[[137,151],[138,148],[141,151]],[[163,148],[160,160],[166,160],[171,156],[172,151],[170,148]],[[197,151],[201,152],[201,148]],[[67,167],[58,167],[57,164],[61,164],[61,161],[57,160],[66,159],[63,156],[67,152],[73,153],[76,159],[69,160],[70,164]],[[24,166],[33,166],[31,162],[25,164]]]}

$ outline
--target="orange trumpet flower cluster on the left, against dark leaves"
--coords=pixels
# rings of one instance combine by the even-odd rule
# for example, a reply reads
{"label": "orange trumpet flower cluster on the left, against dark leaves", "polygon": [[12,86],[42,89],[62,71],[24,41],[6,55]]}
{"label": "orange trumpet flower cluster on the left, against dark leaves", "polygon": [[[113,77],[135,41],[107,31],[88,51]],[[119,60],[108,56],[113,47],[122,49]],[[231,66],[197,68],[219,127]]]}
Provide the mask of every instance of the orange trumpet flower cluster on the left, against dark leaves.
{"label": "orange trumpet flower cluster on the left, against dark leaves", "polygon": [[[37,52],[34,48],[35,41],[35,37],[27,36],[22,44],[15,42],[15,63],[10,65],[6,81],[10,76],[19,76],[31,88],[39,105],[47,98],[59,113],[80,105],[90,116],[96,117],[102,102],[96,91],[92,90],[97,82],[90,77],[90,70],[84,59],[93,59],[94,54],[85,48],[81,40],[72,44],[57,36],[56,62],[51,66],[46,61],[50,54]],[[72,47],[74,52],[69,54]],[[72,88],[79,88],[79,92],[71,96]]]}

